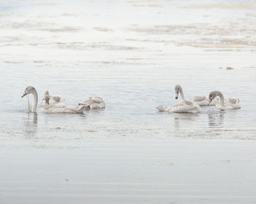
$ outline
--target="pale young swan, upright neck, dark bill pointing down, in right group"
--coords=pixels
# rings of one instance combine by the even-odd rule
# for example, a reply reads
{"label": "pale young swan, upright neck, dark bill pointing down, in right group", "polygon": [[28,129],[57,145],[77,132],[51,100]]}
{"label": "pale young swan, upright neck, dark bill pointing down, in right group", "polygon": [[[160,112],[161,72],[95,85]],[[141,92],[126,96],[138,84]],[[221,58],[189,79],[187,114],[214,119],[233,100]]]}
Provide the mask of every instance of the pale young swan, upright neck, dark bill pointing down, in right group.
{"label": "pale young swan, upright neck, dark bill pointing down, in right group", "polygon": [[181,85],[175,86],[176,99],[178,99],[178,93],[181,95],[181,101],[173,106],[158,106],[157,109],[159,111],[168,111],[168,112],[176,112],[176,113],[198,113],[201,111],[200,106],[197,103],[193,103],[191,101],[186,101],[184,98],[184,93],[181,88]]}

